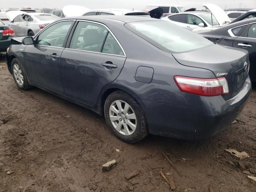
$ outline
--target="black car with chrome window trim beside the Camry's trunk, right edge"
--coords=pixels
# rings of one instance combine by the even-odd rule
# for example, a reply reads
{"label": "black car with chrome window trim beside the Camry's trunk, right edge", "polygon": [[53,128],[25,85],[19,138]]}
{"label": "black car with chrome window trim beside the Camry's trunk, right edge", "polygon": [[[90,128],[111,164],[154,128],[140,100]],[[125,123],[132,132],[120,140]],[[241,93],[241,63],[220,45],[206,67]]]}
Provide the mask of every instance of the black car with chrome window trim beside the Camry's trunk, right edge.
{"label": "black car with chrome window trim beside the Camry's trunk, right edge", "polygon": [[249,75],[251,80],[256,82],[256,18],[200,34],[216,44],[247,50],[250,59]]}

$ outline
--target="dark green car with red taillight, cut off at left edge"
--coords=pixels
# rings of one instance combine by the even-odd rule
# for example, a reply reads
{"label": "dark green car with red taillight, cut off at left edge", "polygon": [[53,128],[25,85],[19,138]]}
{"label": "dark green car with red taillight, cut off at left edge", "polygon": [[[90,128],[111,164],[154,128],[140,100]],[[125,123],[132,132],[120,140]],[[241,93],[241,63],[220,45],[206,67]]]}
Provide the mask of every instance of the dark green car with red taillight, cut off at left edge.
{"label": "dark green car with red taillight, cut off at left edge", "polygon": [[6,52],[13,37],[15,37],[14,30],[0,20],[0,52]]}

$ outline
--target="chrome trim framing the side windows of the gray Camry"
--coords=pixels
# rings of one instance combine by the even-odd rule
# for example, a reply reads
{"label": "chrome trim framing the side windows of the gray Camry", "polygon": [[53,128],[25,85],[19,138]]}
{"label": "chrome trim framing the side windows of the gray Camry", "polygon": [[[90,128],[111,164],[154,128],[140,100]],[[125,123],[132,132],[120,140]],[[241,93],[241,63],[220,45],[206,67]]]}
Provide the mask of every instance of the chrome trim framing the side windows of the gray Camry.
{"label": "chrome trim framing the side windows of the gray Camry", "polygon": [[[59,23],[59,22],[64,22],[64,21],[76,21],[76,19],[67,19],[67,20],[60,20],[60,21],[57,21],[57,22],[54,22],[52,24],[50,24],[49,26],[46,26],[40,33],[38,33],[35,38],[33,40],[36,40],[36,38],[42,33],[44,32],[44,30],[46,30],[47,28],[49,28],[50,26],[56,24],[56,23]],[[69,50],[78,50],[78,51],[85,51],[85,52],[92,52],[92,53],[99,53],[99,54],[106,54],[106,55],[112,55],[112,56],[120,56],[120,57],[126,57],[126,53],[124,51],[124,48],[122,47],[122,45],[120,44],[120,42],[117,40],[116,36],[113,34],[113,32],[103,23],[99,23],[99,22],[96,22],[96,21],[90,21],[90,20],[83,20],[83,19],[78,19],[77,21],[84,21],[84,22],[90,22],[90,23],[96,23],[96,24],[99,24],[99,25],[102,25],[104,27],[106,27],[106,29],[112,34],[112,36],[114,37],[114,39],[116,40],[116,42],[118,43],[118,45],[120,46],[120,48],[122,49],[122,52],[124,53],[124,55],[115,55],[115,54],[108,54],[108,53],[102,53],[102,52],[92,52],[92,51],[86,51],[86,50],[78,50],[78,49],[70,49],[70,48],[66,48],[66,49],[69,49]],[[44,45],[44,46],[47,46],[47,45]],[[48,46],[48,47],[54,47],[54,46]],[[60,47],[54,47],[54,48],[60,48]]]}

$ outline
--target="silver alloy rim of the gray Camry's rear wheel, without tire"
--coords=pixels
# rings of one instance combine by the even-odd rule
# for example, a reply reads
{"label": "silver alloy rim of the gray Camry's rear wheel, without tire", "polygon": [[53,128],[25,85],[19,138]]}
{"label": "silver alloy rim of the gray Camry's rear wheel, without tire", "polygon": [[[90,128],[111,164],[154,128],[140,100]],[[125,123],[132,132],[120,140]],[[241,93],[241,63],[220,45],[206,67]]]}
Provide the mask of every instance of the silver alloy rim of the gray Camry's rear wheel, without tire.
{"label": "silver alloy rim of the gray Camry's rear wheel, without tire", "polygon": [[112,102],[109,117],[114,128],[122,135],[131,135],[136,130],[137,119],[134,110],[122,100]]}

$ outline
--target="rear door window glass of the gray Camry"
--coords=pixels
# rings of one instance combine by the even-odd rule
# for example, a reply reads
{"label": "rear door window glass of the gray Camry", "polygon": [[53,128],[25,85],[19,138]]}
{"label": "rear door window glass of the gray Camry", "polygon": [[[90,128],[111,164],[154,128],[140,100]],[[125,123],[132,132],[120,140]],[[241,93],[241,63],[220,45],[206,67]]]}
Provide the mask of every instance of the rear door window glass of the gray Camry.
{"label": "rear door window glass of the gray Camry", "polygon": [[118,42],[116,42],[108,29],[100,24],[91,22],[78,22],[69,48],[91,52],[102,52],[106,54],[124,55]]}

